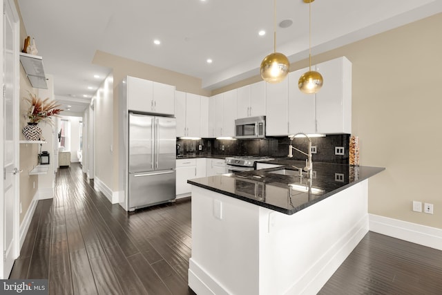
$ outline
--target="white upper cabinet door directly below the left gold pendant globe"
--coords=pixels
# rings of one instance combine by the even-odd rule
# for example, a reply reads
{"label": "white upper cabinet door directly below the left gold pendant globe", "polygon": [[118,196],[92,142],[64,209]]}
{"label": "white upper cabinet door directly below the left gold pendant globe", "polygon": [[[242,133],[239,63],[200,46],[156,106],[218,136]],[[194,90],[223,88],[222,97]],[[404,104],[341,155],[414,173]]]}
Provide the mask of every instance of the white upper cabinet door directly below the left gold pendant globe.
{"label": "white upper cabinet door directly below the left gold pendant globe", "polygon": [[266,135],[288,135],[289,79],[266,85]]}

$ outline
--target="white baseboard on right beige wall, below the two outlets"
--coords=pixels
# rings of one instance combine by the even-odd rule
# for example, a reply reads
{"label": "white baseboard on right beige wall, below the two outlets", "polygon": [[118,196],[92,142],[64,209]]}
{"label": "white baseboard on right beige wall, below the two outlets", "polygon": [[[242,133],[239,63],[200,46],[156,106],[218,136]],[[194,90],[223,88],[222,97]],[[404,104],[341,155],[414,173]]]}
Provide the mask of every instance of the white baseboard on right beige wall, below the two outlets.
{"label": "white baseboard on right beige wall, below the two outlets", "polygon": [[369,230],[407,242],[442,250],[442,229],[369,214]]}

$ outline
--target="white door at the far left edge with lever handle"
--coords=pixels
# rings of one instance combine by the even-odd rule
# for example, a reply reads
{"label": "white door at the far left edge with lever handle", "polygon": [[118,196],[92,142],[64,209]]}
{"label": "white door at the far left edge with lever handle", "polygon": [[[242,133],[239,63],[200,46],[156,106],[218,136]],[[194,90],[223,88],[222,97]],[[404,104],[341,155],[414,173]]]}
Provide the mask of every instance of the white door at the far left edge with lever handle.
{"label": "white door at the far left edge with lever handle", "polygon": [[19,163],[18,144],[18,32],[15,3],[6,0],[3,12],[3,267],[1,278],[8,278],[15,258],[19,256]]}

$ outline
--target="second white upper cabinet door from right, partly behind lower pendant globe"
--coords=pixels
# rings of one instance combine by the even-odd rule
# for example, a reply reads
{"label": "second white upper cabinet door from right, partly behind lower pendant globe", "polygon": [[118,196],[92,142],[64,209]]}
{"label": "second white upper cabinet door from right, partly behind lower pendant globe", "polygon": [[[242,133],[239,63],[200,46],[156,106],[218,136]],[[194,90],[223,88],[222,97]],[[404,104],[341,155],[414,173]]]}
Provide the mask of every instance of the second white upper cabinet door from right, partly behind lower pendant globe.
{"label": "second white upper cabinet door from right, partly behind lower pendant globe", "polygon": [[316,133],[315,95],[302,93],[298,88],[299,77],[307,70],[289,73],[289,134]]}

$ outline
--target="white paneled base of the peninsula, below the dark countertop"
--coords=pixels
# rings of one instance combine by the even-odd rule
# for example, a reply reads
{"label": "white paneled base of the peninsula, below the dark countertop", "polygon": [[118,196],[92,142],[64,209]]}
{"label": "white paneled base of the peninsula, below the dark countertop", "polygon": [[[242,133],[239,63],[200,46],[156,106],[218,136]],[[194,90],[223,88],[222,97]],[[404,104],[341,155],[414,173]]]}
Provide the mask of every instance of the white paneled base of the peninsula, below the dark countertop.
{"label": "white paneled base of the peninsula, below the dark countertop", "polygon": [[293,215],[192,187],[198,295],[317,294],[368,232],[368,180]]}

